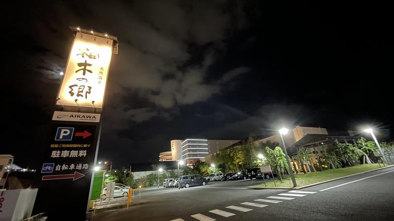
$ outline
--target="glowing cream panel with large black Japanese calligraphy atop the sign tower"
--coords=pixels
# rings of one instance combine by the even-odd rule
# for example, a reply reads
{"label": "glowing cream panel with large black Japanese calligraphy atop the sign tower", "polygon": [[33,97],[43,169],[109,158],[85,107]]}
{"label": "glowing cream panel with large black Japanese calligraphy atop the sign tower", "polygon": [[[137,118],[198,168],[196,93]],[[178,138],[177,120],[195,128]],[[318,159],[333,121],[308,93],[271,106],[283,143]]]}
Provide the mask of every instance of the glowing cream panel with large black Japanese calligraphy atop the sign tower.
{"label": "glowing cream panel with large black Japanese calligraphy atop the sign tower", "polygon": [[111,39],[76,33],[59,102],[65,106],[102,108],[111,56]]}

